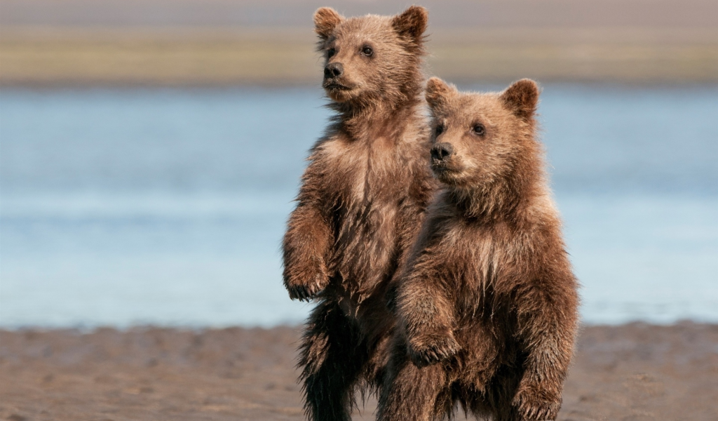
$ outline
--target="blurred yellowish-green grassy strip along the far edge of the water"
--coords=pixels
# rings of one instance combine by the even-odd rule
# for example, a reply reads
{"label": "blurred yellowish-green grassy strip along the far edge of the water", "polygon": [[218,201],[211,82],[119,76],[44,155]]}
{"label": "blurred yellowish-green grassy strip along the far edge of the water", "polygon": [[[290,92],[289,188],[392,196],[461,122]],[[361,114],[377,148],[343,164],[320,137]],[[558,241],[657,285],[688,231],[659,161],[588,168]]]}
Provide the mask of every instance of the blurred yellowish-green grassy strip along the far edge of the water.
{"label": "blurred yellowish-green grassy strip along the far edge of the water", "polygon": [[[718,29],[437,29],[429,73],[457,82],[718,83]],[[0,30],[1,85],[318,83],[311,29]]]}

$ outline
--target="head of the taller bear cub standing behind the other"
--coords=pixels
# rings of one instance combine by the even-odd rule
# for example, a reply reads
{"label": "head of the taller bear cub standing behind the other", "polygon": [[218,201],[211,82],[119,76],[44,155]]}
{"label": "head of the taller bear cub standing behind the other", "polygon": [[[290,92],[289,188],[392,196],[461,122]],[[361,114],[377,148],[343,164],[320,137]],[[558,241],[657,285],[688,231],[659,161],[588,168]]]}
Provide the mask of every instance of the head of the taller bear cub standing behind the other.
{"label": "head of the taller bear cub standing behind the other", "polygon": [[339,103],[401,101],[418,91],[426,9],[411,6],[394,17],[345,19],[334,9],[314,12],[318,50],[325,58],[322,87]]}

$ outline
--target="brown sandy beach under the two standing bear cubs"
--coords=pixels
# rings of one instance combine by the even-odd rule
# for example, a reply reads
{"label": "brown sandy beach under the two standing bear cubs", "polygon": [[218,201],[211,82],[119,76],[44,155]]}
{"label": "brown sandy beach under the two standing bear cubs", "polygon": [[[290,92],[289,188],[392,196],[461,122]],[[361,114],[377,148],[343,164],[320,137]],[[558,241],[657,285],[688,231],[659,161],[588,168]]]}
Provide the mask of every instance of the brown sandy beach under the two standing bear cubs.
{"label": "brown sandy beach under the two standing bear cubs", "polygon": [[[302,420],[298,328],[0,331],[3,420]],[[718,419],[718,325],[582,330],[559,420]],[[373,420],[370,399],[355,420]]]}

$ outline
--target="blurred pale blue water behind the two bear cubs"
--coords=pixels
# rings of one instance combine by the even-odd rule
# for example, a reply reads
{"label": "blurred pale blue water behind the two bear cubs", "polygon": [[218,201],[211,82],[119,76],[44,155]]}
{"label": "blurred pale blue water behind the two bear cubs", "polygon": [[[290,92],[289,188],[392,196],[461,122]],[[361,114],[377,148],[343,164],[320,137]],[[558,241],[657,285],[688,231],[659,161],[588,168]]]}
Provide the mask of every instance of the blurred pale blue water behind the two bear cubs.
{"label": "blurred pale blue water behind the two bear cubs", "polygon": [[[0,325],[276,325],[315,88],[4,89]],[[718,321],[718,88],[547,85],[587,323]]]}

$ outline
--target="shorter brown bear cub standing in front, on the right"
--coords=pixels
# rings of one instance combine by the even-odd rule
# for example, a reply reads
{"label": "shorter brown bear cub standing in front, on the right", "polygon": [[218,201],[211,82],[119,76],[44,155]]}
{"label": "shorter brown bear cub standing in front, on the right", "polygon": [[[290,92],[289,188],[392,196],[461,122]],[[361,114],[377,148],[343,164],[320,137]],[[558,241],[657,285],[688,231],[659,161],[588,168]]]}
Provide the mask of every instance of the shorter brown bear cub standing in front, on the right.
{"label": "shorter brown bear cub standing in front, on the right", "polygon": [[459,93],[432,78],[429,205],[396,292],[381,420],[554,420],[577,333],[577,280],[544,177],[538,87]]}

